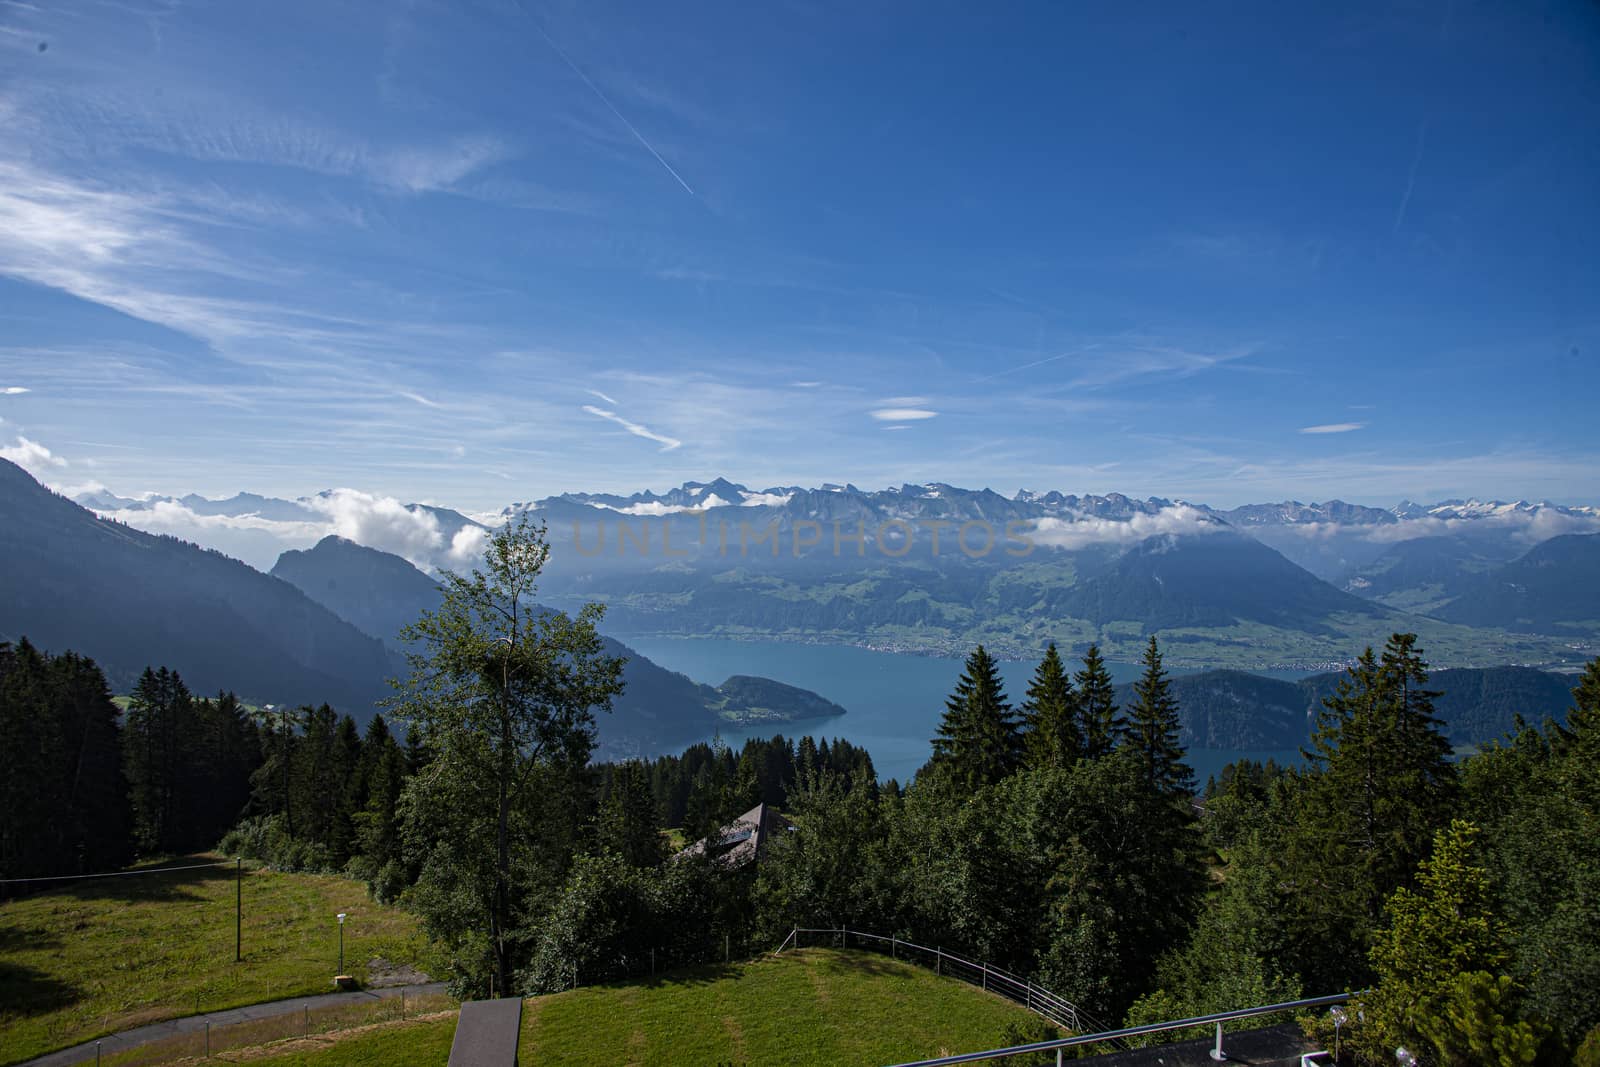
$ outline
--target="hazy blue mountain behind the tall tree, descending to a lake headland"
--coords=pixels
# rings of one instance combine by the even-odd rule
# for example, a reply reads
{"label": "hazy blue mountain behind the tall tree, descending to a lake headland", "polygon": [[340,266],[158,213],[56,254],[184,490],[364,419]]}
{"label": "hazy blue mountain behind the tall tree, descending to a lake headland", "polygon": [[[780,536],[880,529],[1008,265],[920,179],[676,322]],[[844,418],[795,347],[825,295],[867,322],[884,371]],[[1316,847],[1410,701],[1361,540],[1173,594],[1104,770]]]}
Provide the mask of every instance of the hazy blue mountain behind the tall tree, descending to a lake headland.
{"label": "hazy blue mountain behind the tall tree, descending to a lake headland", "polygon": [[[408,561],[341,537],[285,552],[272,574],[301,589],[363,632],[400,648],[400,627],[438,606],[438,584]],[[843,715],[808,689],[768,678],[734,677],[706,686],[666,670],[614,638],[605,654],[622,656],[626,689],[598,721],[600,755],[619,758],[698,741],[726,723],[789,721]]]}

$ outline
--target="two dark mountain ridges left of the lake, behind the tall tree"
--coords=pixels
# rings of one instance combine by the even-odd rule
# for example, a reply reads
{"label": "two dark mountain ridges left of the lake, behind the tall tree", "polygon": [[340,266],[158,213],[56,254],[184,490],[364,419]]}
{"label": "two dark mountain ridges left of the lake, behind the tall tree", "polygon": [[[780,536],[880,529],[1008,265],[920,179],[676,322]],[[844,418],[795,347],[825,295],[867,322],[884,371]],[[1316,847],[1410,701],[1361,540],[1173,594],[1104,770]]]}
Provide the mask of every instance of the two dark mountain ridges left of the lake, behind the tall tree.
{"label": "two dark mountain ridges left of the lake, behind the tall tree", "polygon": [[[398,629],[437,603],[435,581],[395,555],[328,537],[262,574],[99,518],[0,461],[0,640],[86,654],[117,691],[144,667],[168,665],[197,693],[328,702],[365,721],[392,693],[386,678],[406,669]],[[608,757],[682,745],[728,723],[845,712],[770,678],[698,685],[611,638],[606,654],[627,661],[627,688],[600,717]]]}

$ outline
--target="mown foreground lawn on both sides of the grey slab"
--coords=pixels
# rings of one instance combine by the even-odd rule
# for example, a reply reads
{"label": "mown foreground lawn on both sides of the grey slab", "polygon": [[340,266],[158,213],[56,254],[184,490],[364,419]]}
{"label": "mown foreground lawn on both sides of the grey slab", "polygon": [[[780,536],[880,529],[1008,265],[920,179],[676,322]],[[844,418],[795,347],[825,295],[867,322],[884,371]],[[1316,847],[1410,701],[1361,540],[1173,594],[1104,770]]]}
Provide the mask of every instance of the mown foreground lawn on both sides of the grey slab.
{"label": "mown foreground lawn on both sides of the grey slab", "polygon": [[[523,1006],[518,1059],[568,1067],[890,1064],[992,1048],[1008,1024],[1034,1021],[1008,1000],[907,963],[805,949],[536,997]],[[250,1059],[264,1067],[424,1067],[445,1062],[454,1027],[454,1016],[394,1024]]]}

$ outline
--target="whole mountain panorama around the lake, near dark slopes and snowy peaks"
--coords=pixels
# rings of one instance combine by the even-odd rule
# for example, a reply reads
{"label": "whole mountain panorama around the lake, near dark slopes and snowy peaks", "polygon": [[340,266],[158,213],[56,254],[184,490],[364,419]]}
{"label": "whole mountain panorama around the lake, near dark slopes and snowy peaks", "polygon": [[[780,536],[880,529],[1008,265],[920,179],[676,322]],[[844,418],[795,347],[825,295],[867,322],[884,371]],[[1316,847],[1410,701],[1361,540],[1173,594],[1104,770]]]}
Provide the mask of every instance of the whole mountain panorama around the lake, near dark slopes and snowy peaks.
{"label": "whole mountain panorama around the lake, near dark slopes and snowy peaks", "polygon": [[[250,509],[256,522],[309,525],[307,515],[349,504],[338,491],[307,501],[238,494],[166,507],[224,518]],[[618,635],[715,632],[918,651],[965,651],[984,640],[1026,656],[1046,640],[1070,648],[1098,640],[1112,653],[1131,651],[1146,633],[1158,633],[1174,665],[1214,667],[1227,664],[1230,649],[1240,661],[1282,648],[1298,651],[1301,662],[1330,651],[1347,657],[1358,651],[1357,641],[1402,629],[1424,632],[1434,662],[1448,662],[1448,653],[1437,653],[1453,640],[1461,659],[1499,649],[1480,662],[1517,662],[1552,648],[1589,656],[1600,537],[1558,533],[1499,558],[1507,555],[1507,528],[1526,537],[1587,522],[1586,509],[1554,507],[1451,502],[1379,512],[1283,504],[1219,512],[1117,494],[1003,498],[950,486],[752,493],[718,480],[659,496],[568,494],[514,506],[506,517],[531,512],[550,526],[558,545],[552,561],[562,565],[550,568],[541,598],[552,606],[606,601],[606,624]],[[440,537],[483,530],[450,509],[390,510]],[[962,523],[994,526],[1003,537],[1005,523],[1026,512],[1035,514],[1029,534],[1040,534],[1027,552],[1005,552],[1003,539],[986,553],[950,549]],[[718,526],[749,517],[779,536],[738,550],[731,534],[723,552]],[[654,523],[653,541],[640,550],[646,520]],[[814,533],[806,523],[824,520],[907,528],[893,528],[883,541],[874,533],[861,550],[846,542],[837,555],[832,544],[819,555],[794,550],[797,537],[806,542]],[[1443,533],[1384,545],[1342,587],[1256,536],[1314,528],[1328,539],[1330,530],[1418,522],[1430,530],[1446,525]],[[595,549],[597,534],[584,523],[611,523],[605,550]],[[632,528],[621,534],[616,523]],[[664,542],[669,528],[675,539]],[[946,537],[942,549],[933,545],[936,530]],[[1410,603],[1430,616],[1395,606],[1414,590],[1426,592]],[[144,665],[168,664],[202,693],[230,688],[261,701],[328,701],[363,713],[387,696],[384,678],[403,670],[400,629],[434,608],[438,595],[435,577],[411,561],[338,536],[282,552],[264,574],[178,537],[96,517],[0,462],[0,640],[26,633],[46,648],[83,651],[107,669],[115,688],[128,688]],[[843,710],[766,678],[699,685],[621,640],[606,640],[608,653],[627,657],[627,693],[602,720],[603,755],[666,750],[725,723],[813,720]],[[1338,680],[1323,673],[1280,681],[1227,669],[1182,675],[1176,688],[1184,739],[1198,747],[1294,747]],[[1494,665],[1438,670],[1434,683],[1446,691],[1440,713],[1451,737],[1472,742],[1504,733],[1515,713],[1538,718],[1565,707],[1568,680]]]}

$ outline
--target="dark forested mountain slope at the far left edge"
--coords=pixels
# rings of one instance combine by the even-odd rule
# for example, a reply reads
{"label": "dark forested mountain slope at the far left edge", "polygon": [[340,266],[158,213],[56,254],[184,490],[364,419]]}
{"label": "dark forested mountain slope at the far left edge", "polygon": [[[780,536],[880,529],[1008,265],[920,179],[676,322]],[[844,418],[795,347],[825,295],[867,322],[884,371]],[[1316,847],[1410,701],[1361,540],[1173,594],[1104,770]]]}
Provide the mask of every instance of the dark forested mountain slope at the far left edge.
{"label": "dark forested mountain slope at the far left edge", "polygon": [[93,656],[115,688],[147,665],[197,693],[370,713],[395,656],[288,582],[96,518],[0,461],[0,638]]}

